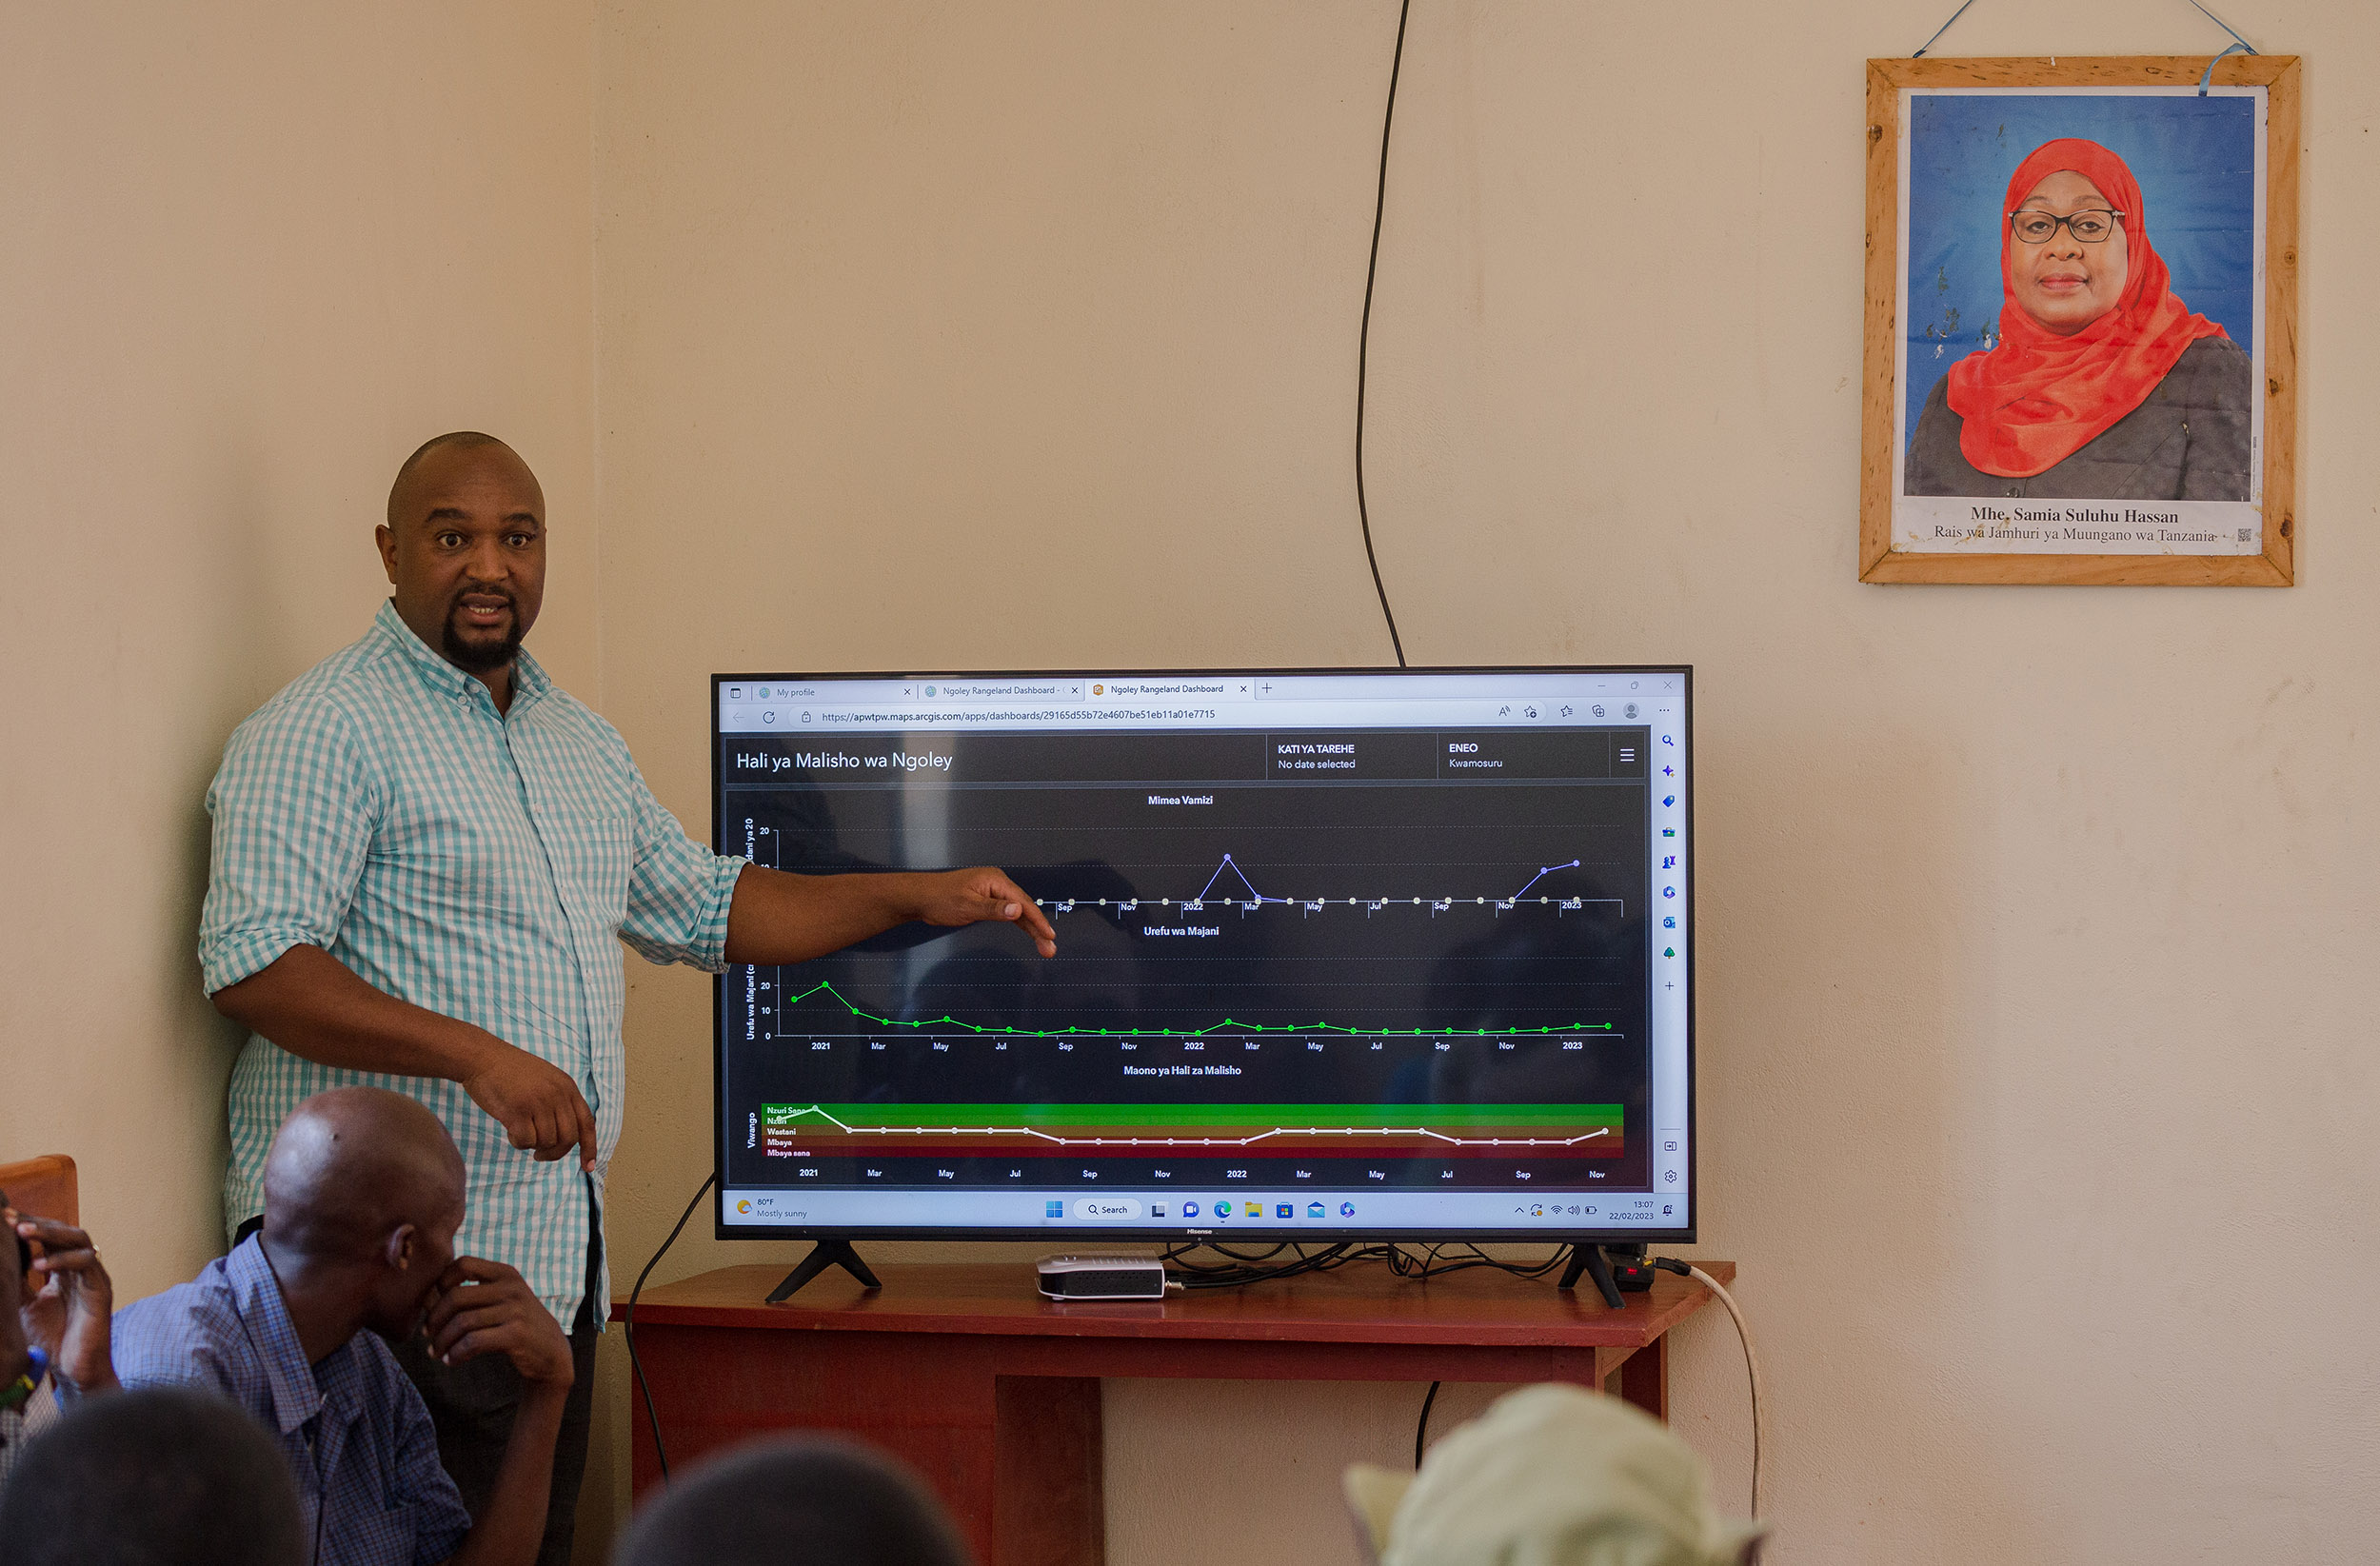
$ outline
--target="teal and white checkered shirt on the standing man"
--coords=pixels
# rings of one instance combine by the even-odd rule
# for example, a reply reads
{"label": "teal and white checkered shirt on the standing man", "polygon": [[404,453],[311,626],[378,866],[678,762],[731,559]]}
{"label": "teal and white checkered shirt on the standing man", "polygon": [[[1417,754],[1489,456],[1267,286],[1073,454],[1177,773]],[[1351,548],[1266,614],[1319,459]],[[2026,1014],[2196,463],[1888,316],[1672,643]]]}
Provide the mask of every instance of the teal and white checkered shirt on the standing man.
{"label": "teal and white checkered shirt on the standing man", "polygon": [[[562,1066],[595,1109],[600,1190],[626,1085],[616,942],[719,971],[745,862],[693,842],[619,731],[533,657],[512,681],[500,714],[381,605],[359,643],[250,714],[207,790],[198,957],[214,995],[317,945],[397,1000]],[[264,1211],[264,1152],[288,1111],[343,1083],[438,1111],[469,1166],[457,1252],[521,1269],[569,1326],[588,1271],[578,1159],[516,1152],[459,1083],[338,1071],[250,1038],[231,1071],[226,1228]]]}

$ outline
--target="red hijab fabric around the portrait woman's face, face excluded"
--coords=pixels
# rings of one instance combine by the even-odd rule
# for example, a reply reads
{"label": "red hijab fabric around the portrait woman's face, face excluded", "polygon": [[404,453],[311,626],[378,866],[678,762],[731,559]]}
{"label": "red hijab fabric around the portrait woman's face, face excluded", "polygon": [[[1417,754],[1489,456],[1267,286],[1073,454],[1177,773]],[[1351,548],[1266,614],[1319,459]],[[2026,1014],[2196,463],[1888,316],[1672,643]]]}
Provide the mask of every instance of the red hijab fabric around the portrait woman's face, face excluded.
{"label": "red hijab fabric around the portrait woman's face, face excluded", "polygon": [[2073,336],[2059,336],[2016,302],[2016,233],[1999,224],[1999,345],[1949,369],[1949,412],[1964,421],[1959,450],[1985,474],[2033,478],[2073,457],[2106,426],[2147,402],[2182,350],[2223,328],[2192,314],[2171,288],[2163,257],[2149,248],[2140,183],[2121,157],[2094,140],[2042,143],[2009,178],[2013,212],[2059,169],[2073,169],[2123,212],[2128,271],[2116,307]]}

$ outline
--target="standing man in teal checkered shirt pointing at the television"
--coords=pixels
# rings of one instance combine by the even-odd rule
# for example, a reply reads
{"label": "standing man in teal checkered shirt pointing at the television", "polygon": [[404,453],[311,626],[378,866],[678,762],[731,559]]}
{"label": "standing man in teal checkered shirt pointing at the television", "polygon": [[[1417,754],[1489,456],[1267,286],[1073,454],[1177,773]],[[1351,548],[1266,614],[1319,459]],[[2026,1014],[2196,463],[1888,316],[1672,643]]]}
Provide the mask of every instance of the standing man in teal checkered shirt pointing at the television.
{"label": "standing man in teal checkered shirt pointing at the television", "polygon": [[[904,921],[1042,912],[992,869],[790,876],[693,842],[626,743],[557,690],[521,638],[545,595],[545,495],[502,440],[440,436],[388,493],[395,593],[371,631],[231,735],[200,964],[255,1035],[231,1076],[233,1226],[295,1104],[374,1083],[421,1100],[462,1150],[457,1245],[516,1266],[571,1323],[576,1376],[540,1561],[566,1561],[605,1290],[597,1192],[626,1054],[616,940],[719,971],[795,964]],[[566,1161],[564,1161],[566,1159]],[[521,1402],[500,1357],[400,1361],[481,1511]]]}

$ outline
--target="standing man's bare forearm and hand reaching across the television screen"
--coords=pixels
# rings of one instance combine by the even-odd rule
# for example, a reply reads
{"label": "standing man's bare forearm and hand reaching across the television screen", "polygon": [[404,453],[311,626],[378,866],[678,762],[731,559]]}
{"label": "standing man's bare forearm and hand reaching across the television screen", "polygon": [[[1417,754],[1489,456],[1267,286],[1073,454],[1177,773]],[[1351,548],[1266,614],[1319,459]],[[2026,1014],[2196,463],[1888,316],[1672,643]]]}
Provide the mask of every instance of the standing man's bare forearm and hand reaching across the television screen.
{"label": "standing man's bare forearm and hand reaching across the television screen", "polygon": [[728,902],[728,961],[809,961],[897,923],[1007,921],[1057,957],[1057,931],[1023,888],[995,869],[795,876],[747,864]]}

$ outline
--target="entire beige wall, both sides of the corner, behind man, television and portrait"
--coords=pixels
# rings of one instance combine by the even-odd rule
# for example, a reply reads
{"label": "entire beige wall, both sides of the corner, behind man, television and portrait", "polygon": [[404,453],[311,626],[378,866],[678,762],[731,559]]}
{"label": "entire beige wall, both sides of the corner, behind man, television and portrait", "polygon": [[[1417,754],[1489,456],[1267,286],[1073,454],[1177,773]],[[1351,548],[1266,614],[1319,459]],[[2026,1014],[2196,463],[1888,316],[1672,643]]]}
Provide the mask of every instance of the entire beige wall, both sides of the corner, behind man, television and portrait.
{"label": "entire beige wall, both sides of the corner, behind man, television and portrait", "polygon": [[[2071,12],[1999,0],[1944,48],[2213,43],[2168,0]],[[1783,1561],[2380,1533],[2380,19],[2235,19],[2309,57],[2306,585],[1880,590],[1859,62],[1935,17],[1416,5],[1383,569],[1418,659],[1702,671],[1704,1252],[1747,1269]],[[124,1292],[217,1245],[200,790],[362,626],[424,433],[540,469],[538,652],[697,831],[709,669],[1380,657],[1347,443],[1390,29],[1388,0],[0,14],[0,1128],[83,1159]],[[709,1123],[702,981],[631,976],[624,1266]],[[721,1259],[695,1235],[664,1276]],[[1735,1347],[1680,1349],[1733,1495]],[[607,1397],[616,1457],[616,1364]],[[1347,1559],[1330,1478],[1411,1411],[1121,1383],[1114,1559]]]}

